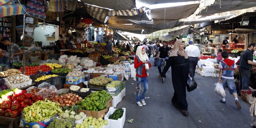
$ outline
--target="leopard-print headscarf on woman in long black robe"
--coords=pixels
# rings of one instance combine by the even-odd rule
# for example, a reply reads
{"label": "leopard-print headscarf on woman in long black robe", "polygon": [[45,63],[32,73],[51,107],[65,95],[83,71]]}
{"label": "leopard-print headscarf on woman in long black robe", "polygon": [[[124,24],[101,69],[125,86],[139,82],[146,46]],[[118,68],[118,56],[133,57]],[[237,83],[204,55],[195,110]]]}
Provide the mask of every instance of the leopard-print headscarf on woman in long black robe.
{"label": "leopard-print headscarf on woman in long black robe", "polygon": [[184,56],[185,59],[188,59],[188,54],[185,52],[184,49],[180,49],[179,46],[180,44],[182,43],[182,40],[181,39],[178,39],[175,43],[174,43],[174,49],[173,51],[171,52],[170,56],[178,56],[178,54],[180,56]]}

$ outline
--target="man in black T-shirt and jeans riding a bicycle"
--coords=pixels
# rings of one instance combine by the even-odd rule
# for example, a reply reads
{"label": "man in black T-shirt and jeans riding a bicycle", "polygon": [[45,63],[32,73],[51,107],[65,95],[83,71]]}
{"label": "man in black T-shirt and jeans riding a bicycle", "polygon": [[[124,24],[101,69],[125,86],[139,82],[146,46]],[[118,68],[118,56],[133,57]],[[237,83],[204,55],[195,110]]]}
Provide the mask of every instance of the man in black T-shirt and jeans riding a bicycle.
{"label": "man in black T-shirt and jeans riding a bicycle", "polygon": [[[166,47],[166,41],[162,41],[162,47],[159,48],[159,51],[158,51],[158,55],[156,56],[156,58],[162,58],[162,59],[168,59],[168,53],[170,55],[170,48],[169,47]],[[162,73],[162,70],[161,70],[161,64],[163,62],[162,59],[158,59],[158,64],[157,64],[157,68],[158,68],[158,71],[159,71],[159,76],[161,75]]]}

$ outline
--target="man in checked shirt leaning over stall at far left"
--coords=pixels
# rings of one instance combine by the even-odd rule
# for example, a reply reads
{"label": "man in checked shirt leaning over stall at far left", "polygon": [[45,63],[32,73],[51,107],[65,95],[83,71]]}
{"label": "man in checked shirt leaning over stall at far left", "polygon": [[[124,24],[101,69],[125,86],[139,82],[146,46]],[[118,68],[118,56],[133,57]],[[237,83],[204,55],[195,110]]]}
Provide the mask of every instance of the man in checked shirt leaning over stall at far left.
{"label": "man in checked shirt leaning over stall at far left", "polygon": [[9,53],[6,67],[12,68],[14,62],[20,61],[20,55],[23,54],[23,50],[19,47],[19,45],[12,43],[7,37],[3,37],[1,41],[7,46],[7,51]]}

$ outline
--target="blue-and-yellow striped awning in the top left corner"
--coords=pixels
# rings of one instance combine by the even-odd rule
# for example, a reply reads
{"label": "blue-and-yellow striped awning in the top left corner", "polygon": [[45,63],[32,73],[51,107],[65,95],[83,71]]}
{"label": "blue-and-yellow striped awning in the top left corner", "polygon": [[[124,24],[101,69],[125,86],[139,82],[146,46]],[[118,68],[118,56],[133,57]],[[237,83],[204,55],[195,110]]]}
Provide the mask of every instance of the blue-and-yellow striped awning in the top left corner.
{"label": "blue-and-yellow striped awning in the top left corner", "polygon": [[20,4],[0,6],[0,17],[25,14],[26,7]]}

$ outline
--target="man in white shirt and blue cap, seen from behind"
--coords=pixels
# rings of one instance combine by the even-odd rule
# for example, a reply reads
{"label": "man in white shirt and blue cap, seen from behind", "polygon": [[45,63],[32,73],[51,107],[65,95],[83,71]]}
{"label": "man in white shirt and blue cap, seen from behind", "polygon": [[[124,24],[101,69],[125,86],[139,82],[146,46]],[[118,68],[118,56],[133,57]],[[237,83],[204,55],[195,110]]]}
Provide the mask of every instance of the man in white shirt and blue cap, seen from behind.
{"label": "man in white shirt and blue cap, seen from behind", "polygon": [[200,50],[197,46],[193,45],[192,41],[189,41],[189,46],[186,47],[185,51],[189,57],[189,74],[194,79],[197,62],[200,60]]}

